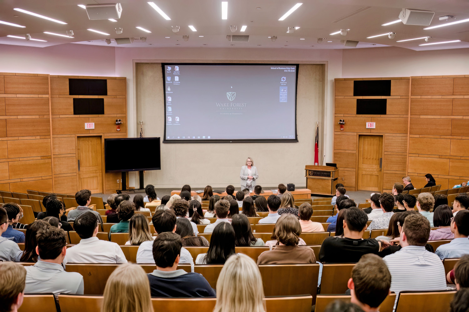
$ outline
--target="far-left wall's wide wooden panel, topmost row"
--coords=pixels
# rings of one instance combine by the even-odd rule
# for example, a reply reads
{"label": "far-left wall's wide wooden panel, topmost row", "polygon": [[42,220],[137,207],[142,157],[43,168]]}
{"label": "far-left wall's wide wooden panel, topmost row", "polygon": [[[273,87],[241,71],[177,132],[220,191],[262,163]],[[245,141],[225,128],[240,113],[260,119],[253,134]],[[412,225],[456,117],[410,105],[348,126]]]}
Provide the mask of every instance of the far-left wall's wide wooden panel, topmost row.
{"label": "far-left wall's wide wooden panel, topmost row", "polygon": [[38,76],[4,76],[5,93],[49,94],[49,79]]}

